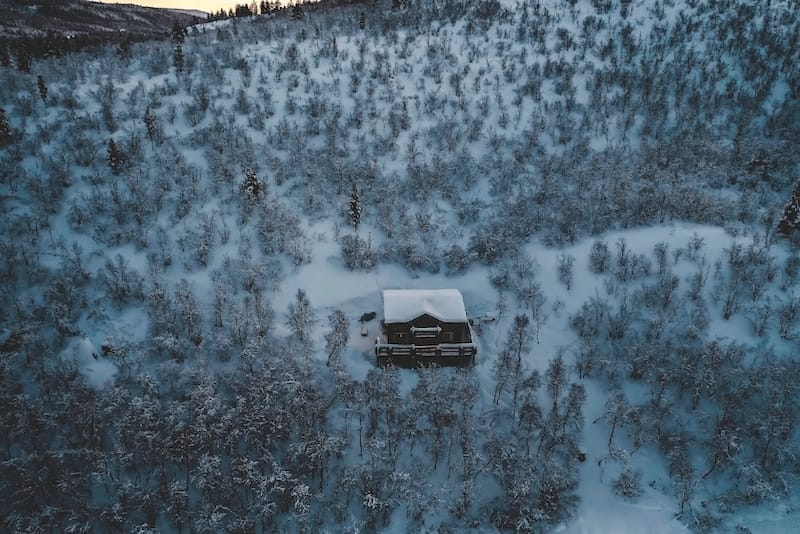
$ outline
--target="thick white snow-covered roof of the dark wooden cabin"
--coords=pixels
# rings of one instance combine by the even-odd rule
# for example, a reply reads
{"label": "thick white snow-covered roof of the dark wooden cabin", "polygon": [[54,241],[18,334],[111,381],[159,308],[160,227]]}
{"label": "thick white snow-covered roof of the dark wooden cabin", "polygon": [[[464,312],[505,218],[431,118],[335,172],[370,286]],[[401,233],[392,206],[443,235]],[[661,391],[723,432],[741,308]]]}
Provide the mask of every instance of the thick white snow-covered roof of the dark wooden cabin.
{"label": "thick white snow-covered roof of the dark wooden cabin", "polygon": [[428,314],[443,323],[466,323],[464,299],[458,289],[385,289],[383,320],[407,323]]}

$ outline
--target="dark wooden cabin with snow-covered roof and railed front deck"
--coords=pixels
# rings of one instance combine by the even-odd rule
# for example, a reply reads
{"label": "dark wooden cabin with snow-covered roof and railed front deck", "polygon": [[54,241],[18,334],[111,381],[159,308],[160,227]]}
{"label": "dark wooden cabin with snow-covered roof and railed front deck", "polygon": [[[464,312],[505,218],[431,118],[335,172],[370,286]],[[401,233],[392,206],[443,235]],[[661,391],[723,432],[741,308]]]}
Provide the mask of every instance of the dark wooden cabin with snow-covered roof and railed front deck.
{"label": "dark wooden cabin with snow-covered roof and railed front deck", "polygon": [[472,365],[478,347],[457,289],[387,289],[378,365]]}

